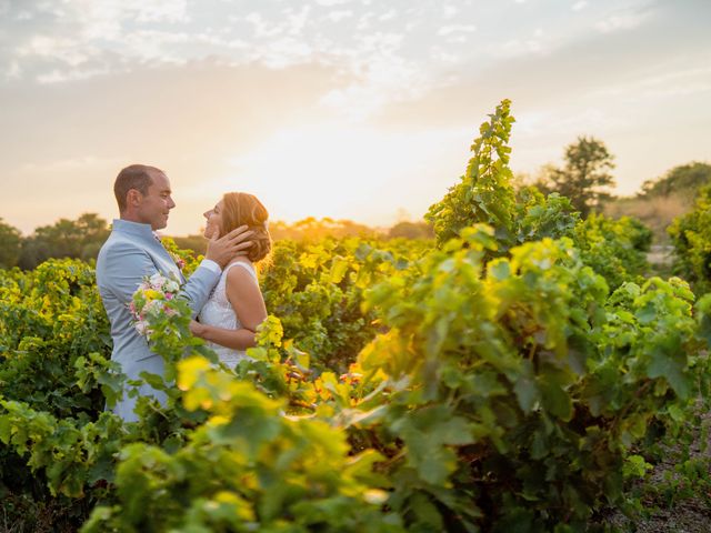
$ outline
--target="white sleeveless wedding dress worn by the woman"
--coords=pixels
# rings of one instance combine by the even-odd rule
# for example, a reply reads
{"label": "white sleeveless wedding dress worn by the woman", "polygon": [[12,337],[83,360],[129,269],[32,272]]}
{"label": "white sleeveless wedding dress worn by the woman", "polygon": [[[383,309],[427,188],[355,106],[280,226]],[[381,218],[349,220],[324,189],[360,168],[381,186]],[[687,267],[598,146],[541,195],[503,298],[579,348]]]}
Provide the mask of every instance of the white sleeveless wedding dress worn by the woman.
{"label": "white sleeveless wedding dress worn by the woman", "polygon": [[[243,263],[241,261],[236,261],[227,265],[227,268],[222,271],[222,276],[218,284],[214,285],[214,289],[210,293],[210,298],[202,306],[200,314],[198,314],[198,320],[202,324],[213,325],[216,328],[223,328],[226,330],[239,330],[241,329],[240,321],[234,313],[234,309],[232,309],[232,304],[227,299],[226,285],[227,285],[227,273],[234,266],[240,266],[247,270],[251,276],[254,279],[254,283],[259,283],[257,279],[257,272],[254,272],[254,268],[251,264]],[[220,361],[227,364],[229,368],[234,369],[237,363],[244,359],[250,359],[243,350],[234,350],[232,348],[220,346],[213,342],[207,342],[208,348],[214,350],[214,352],[220,358]]]}

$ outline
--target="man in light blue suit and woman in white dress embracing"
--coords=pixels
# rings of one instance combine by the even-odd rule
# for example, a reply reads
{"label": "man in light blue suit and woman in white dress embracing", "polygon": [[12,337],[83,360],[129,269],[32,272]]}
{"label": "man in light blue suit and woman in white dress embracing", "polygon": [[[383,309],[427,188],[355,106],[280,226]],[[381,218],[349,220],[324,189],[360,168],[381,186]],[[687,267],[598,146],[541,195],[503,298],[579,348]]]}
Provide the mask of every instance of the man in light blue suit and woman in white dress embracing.
{"label": "man in light blue suit and woman in white dress embracing", "polygon": [[[166,173],[132,164],[119,172],[113,192],[120,218],[113,221],[97,259],[97,285],[111,323],[111,360],[129,380],[139,380],[141,372],[163,374],[162,358],[151,352],[129,311],[143,279],[161,273],[180,280],[181,296],[192,310],[192,333],[207,340],[222,362],[237,365],[247,358],[244,350],[254,345],[257,326],[267,318],[254,266],[271,250],[267,209],[252,194],[224,194],[203,214],[208,249],[186,280],[156,234],[166,228],[176,207]],[[166,401],[166,395],[148,383],[139,388],[139,395]],[[127,422],[137,421],[136,401],[124,394],[113,411]]]}

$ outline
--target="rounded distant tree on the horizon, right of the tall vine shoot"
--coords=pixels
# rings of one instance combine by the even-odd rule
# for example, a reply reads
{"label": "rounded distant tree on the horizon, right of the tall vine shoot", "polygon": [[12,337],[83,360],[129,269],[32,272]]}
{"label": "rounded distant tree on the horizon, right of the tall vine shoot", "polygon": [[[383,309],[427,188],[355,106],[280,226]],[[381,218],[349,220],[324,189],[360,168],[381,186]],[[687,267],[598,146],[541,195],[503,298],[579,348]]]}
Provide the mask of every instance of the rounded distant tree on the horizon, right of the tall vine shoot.
{"label": "rounded distant tree on the horizon, right of the tall vine shoot", "polygon": [[612,160],[613,155],[602,141],[594,137],[579,137],[577,142],[565,148],[563,167],[544,167],[535,187],[545,194],[558,192],[569,198],[585,218],[612,198],[605,190],[614,185],[610,173],[614,168]]}

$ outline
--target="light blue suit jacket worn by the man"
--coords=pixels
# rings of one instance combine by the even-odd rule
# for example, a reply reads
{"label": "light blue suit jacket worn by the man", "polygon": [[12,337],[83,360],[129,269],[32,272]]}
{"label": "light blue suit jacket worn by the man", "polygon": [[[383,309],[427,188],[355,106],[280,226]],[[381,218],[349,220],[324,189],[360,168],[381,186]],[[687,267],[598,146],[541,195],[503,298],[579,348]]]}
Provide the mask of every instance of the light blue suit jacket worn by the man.
{"label": "light blue suit jacket worn by the man", "polygon": [[[121,365],[121,371],[130,380],[140,379],[139,374],[144,371],[163,374],[163,359],[152,353],[146,338],[138,334],[128,309],[143,276],[156,272],[177,274],[184,282],[176,262],[149,224],[114,220],[111,234],[97,259],[97,285],[111,322],[111,359]],[[219,266],[209,261],[198,266],[190,280],[182,285],[181,293],[189,302],[193,318],[202,309],[219,279]],[[139,391],[140,395],[152,395],[161,403],[166,401],[164,393],[147,383]],[[137,421],[138,416],[133,412],[136,401],[137,398],[123,398],[113,412],[127,422]]]}

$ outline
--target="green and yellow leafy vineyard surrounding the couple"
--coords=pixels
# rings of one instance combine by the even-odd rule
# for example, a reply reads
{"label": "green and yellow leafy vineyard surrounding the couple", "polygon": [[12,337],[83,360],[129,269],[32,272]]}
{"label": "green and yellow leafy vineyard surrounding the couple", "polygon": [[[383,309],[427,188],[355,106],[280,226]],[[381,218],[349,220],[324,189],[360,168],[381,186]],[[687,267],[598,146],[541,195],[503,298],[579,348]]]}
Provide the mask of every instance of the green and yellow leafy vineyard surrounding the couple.
{"label": "green and yellow leafy vineyard surrounding the couple", "polygon": [[168,405],[139,399],[136,423],[106,410],[137,383],[109,359],[93,263],[0,270],[0,529],[563,533],[711,509],[690,452],[709,440],[711,193],[672,229],[679,276],[654,276],[639,221],[513,188],[509,105],[430,208],[435,240],[276,244],[254,361],[218,365],[174,300],[151,324],[166,375],[144,374]]}

